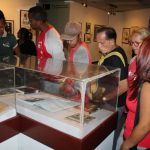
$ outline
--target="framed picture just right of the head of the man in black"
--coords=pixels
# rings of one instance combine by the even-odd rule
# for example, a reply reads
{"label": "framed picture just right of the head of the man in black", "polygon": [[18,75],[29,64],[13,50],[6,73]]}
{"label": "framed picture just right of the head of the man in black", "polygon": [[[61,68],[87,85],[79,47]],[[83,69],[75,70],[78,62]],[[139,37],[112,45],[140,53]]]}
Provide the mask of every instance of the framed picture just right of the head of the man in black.
{"label": "framed picture just right of the head of the man in black", "polygon": [[128,44],[130,38],[130,28],[123,28],[122,29],[122,43]]}

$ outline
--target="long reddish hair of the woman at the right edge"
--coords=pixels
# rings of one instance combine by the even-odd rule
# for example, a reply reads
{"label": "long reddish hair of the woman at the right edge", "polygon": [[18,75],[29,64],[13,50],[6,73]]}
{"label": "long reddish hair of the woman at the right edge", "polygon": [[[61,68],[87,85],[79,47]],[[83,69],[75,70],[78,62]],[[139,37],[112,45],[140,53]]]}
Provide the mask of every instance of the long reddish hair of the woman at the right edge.
{"label": "long reddish hair of the woman at the right edge", "polygon": [[141,83],[150,82],[150,36],[144,39],[137,60],[136,79],[133,83],[132,99],[135,99],[138,94]]}

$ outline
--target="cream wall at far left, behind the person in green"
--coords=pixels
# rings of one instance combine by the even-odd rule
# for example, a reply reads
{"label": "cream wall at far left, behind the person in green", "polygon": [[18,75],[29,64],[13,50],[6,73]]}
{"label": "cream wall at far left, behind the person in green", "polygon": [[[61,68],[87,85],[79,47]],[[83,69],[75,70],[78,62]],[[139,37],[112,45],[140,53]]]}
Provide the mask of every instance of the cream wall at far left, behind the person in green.
{"label": "cream wall at far left, behind the person in green", "polygon": [[38,0],[0,0],[0,9],[6,20],[14,20],[14,34],[20,29],[20,10],[28,10],[35,6]]}

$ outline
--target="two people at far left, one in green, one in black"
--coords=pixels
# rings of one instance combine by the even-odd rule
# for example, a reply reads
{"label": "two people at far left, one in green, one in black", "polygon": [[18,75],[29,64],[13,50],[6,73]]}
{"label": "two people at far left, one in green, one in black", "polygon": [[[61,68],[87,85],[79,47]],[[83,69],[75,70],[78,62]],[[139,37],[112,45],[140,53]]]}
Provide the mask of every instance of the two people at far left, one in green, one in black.
{"label": "two people at far left, one in green, one in black", "polygon": [[16,37],[6,32],[6,21],[3,12],[0,10],[0,62],[16,64],[16,57],[21,59],[23,55],[36,56],[36,46],[32,41],[32,33],[21,28]]}

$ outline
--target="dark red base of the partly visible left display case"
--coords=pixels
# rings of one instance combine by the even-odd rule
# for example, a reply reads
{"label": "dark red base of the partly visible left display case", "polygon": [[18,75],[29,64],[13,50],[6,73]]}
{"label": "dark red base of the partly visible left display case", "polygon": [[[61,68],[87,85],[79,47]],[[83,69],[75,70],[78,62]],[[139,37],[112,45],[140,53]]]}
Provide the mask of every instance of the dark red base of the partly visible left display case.
{"label": "dark red base of the partly visible left display case", "polygon": [[20,132],[20,116],[17,115],[0,122],[0,142],[3,142]]}

